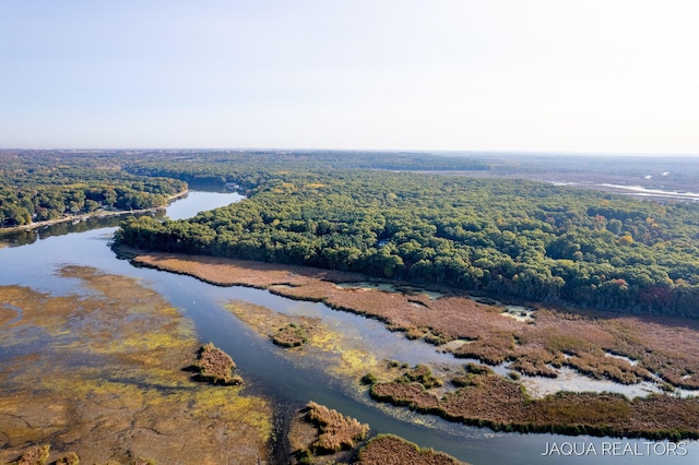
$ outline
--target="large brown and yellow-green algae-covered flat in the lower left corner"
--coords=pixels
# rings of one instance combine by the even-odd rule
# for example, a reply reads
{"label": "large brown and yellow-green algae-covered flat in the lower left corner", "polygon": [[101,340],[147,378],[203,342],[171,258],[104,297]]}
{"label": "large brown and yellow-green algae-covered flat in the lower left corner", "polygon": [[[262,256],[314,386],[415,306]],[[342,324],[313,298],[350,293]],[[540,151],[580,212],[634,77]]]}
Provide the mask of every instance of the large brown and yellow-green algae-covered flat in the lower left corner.
{"label": "large brown and yellow-green algae-covered flat in the lower left corner", "polygon": [[[191,322],[137,279],[70,266],[69,296],[0,287],[0,463],[33,444],[51,461],[250,463],[268,457],[270,402],[194,383]],[[58,462],[57,462],[58,463]],[[147,463],[147,462],[141,462]]]}

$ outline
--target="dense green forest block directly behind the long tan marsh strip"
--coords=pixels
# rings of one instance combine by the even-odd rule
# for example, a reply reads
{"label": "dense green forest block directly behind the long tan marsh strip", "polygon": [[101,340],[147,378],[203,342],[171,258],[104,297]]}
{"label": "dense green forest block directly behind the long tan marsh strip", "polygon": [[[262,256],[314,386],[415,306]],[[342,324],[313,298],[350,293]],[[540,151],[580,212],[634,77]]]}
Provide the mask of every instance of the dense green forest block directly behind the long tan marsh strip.
{"label": "dense green forest block directly behind the long tan marsh strip", "polygon": [[529,181],[258,174],[244,202],[117,240],[601,309],[697,315],[699,208]]}

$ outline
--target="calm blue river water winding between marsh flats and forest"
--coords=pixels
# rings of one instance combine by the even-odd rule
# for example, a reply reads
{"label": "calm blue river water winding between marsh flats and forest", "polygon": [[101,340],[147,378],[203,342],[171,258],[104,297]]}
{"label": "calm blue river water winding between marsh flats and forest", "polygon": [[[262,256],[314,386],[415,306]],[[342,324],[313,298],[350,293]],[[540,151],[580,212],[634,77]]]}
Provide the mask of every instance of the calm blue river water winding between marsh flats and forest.
{"label": "calm blue river water winding between marsh flats and forest", "polygon": [[[171,218],[187,217],[240,199],[233,193],[191,192],[168,207],[166,214]],[[427,344],[408,342],[375,320],[337,312],[320,303],[289,300],[259,289],[216,287],[189,276],[134,267],[118,260],[109,249],[116,230],[116,223],[109,222],[71,225],[72,230],[66,225],[59,226],[55,236],[47,229],[4,238],[14,247],[0,249],[0,285],[23,285],[66,295],[79,285],[57,274],[66,265],[93,266],[106,273],[141,278],[192,319],[201,341],[212,341],[233,355],[250,390],[269,395],[277,405],[297,406],[316,401],[368,422],[375,432],[392,432],[473,464],[690,464],[699,461],[697,442],[683,443],[673,451],[672,444],[645,440],[496,433],[374,403],[354,383],[328,374],[325,370],[332,360],[304,359],[274,346],[241,323],[224,303],[238,299],[286,314],[321,318],[330,329],[342,329],[357,348],[370,347],[379,358],[454,367],[464,361],[438,354]],[[547,451],[552,453],[543,456]],[[585,452],[584,456],[577,455],[581,451]]]}

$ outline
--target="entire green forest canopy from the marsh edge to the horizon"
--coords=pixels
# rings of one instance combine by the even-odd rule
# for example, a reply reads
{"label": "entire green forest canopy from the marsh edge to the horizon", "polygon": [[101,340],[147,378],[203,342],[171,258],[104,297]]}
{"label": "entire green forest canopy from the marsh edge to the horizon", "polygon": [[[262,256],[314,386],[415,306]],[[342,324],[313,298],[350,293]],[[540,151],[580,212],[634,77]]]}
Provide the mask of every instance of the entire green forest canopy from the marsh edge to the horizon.
{"label": "entire green forest canopy from the marsh edge to the horizon", "polygon": [[[555,171],[546,157],[312,151],[0,155],[5,225],[16,222],[8,220],[13,208],[25,208],[29,217],[25,213],[23,220],[36,220],[46,215],[42,208],[62,207],[62,214],[105,204],[128,208],[119,199],[162,200],[156,195],[178,191],[182,181],[227,183],[247,199],[188,220],[130,218],[116,240],[357,271],[488,296],[699,317],[699,205],[495,179],[518,164],[525,175],[537,167]],[[640,178],[661,172],[667,163],[629,160],[564,158],[558,172]],[[663,181],[697,178],[691,160],[675,163],[687,169],[672,179],[663,174]],[[109,189],[116,200],[107,198]]]}

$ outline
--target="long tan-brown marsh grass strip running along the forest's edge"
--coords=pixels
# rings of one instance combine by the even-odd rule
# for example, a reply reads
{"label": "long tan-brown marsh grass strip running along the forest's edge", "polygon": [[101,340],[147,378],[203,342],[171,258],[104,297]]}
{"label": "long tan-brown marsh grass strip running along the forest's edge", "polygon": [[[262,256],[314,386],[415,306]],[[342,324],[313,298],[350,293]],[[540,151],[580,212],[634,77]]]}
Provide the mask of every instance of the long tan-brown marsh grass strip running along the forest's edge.
{"label": "long tan-brown marsh grass strip running along the forest's edge", "polygon": [[[210,283],[269,288],[285,297],[323,301],[335,309],[377,318],[391,330],[435,344],[467,339],[472,343],[453,349],[454,355],[487,363],[510,360],[524,374],[553,377],[549,365],[568,365],[594,378],[621,383],[639,382],[655,373],[674,386],[699,389],[696,320],[541,308],[526,324],[503,318],[500,307],[466,296],[423,299],[418,308],[415,296],[334,284],[365,279],[348,273],[163,253],[144,254],[137,262]],[[607,354],[638,363],[614,360]],[[574,357],[565,361],[566,355]]]}

